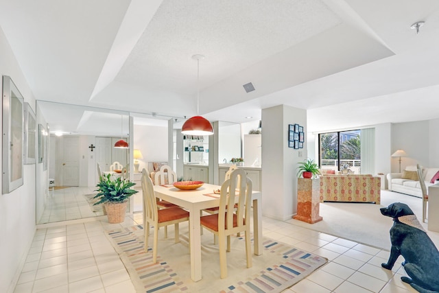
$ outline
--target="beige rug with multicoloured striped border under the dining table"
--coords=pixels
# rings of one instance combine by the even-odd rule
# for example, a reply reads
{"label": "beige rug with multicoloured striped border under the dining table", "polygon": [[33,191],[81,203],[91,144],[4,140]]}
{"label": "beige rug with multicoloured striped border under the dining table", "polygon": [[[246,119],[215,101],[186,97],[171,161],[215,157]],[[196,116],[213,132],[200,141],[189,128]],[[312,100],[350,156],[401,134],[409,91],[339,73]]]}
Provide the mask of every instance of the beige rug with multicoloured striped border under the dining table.
{"label": "beige rug with multicoloured striped border under the dining table", "polygon": [[327,259],[272,239],[263,239],[263,255],[252,255],[252,268],[246,268],[244,237],[232,237],[227,253],[228,277],[219,277],[218,246],[213,234],[202,235],[202,280],[191,280],[187,223],[180,224],[180,243],[174,243],[174,226],[168,238],[159,231],[158,261],[152,263],[152,235],[148,253],[143,250],[141,225],[106,231],[126,266],[137,292],[282,292]]}

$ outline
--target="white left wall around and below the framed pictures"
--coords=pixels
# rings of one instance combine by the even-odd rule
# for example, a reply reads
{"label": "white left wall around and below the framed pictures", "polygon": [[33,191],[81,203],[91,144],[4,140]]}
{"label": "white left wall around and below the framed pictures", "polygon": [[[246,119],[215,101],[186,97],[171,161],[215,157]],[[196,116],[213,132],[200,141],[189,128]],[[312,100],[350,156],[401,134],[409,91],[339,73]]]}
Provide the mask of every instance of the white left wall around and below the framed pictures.
{"label": "white left wall around and below the framed pictures", "polygon": [[[34,112],[35,98],[0,27],[0,74],[9,75]],[[0,80],[0,86],[3,87]],[[2,119],[3,119],[3,114]],[[1,158],[0,158],[1,161]],[[23,168],[23,186],[0,196],[0,292],[12,292],[35,233],[35,168]],[[1,189],[1,183],[0,183]]]}

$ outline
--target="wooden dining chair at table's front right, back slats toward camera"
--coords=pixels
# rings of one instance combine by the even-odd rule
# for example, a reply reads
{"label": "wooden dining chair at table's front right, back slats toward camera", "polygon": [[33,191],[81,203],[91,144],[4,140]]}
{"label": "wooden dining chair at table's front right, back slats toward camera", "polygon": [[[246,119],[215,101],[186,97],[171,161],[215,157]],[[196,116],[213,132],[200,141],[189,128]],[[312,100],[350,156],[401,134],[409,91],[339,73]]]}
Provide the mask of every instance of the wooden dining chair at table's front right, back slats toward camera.
{"label": "wooden dining chair at table's front right, back slats toward camera", "polygon": [[[221,279],[227,277],[226,251],[230,251],[230,235],[245,232],[247,268],[252,267],[250,239],[250,207],[252,200],[252,180],[243,169],[235,169],[221,186],[219,211],[200,218],[202,227],[217,235],[219,242],[219,266]],[[227,211],[227,207],[237,208]],[[227,239],[227,246],[226,246]]]}

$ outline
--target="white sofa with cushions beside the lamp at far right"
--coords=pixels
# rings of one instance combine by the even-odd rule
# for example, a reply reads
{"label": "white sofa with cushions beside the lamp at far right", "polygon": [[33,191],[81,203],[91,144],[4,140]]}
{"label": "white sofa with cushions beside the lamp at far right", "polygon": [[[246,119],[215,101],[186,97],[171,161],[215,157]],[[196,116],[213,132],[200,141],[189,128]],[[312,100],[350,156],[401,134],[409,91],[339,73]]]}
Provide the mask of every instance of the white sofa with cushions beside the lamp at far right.
{"label": "white sofa with cushions beside the lamp at far right", "polygon": [[[407,166],[405,168],[405,173],[389,173],[387,174],[387,180],[389,185],[389,190],[400,192],[401,194],[408,194],[410,196],[417,196],[418,198],[423,197],[423,192],[420,190],[420,184],[418,180],[408,179],[410,172],[416,172],[416,166]],[[423,167],[423,177],[425,181],[425,186],[434,185],[431,183],[431,179],[439,172],[439,168],[427,168]],[[404,174],[406,176],[404,176]],[[405,177],[405,178],[403,178]],[[417,176],[416,176],[417,178]]]}

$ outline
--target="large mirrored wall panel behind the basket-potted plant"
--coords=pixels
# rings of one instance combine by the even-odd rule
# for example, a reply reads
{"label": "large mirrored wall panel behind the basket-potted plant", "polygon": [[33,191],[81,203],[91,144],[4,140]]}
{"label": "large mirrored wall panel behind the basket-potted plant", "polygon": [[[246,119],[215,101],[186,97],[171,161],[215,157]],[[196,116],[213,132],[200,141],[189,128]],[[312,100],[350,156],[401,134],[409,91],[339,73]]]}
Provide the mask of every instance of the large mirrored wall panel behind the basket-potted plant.
{"label": "large mirrored wall panel behind the basket-potted plant", "polygon": [[36,223],[104,215],[100,205],[93,205],[99,180],[97,163],[102,172],[110,172],[114,161],[129,163],[130,149],[113,145],[121,137],[128,141],[130,114],[45,101],[36,104],[36,123],[43,128],[50,126],[46,145],[41,148],[47,152],[47,169],[44,160],[36,167],[40,188],[36,191]]}

